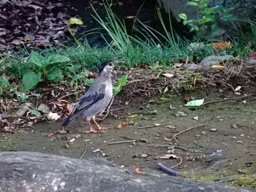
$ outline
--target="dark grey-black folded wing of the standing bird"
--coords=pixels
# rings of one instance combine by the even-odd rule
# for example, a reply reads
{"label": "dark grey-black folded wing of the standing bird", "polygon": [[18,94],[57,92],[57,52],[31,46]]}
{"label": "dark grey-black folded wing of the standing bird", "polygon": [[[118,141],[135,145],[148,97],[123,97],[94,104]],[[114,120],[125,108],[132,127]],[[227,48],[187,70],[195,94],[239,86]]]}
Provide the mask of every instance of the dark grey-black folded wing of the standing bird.
{"label": "dark grey-black folded wing of the standing bird", "polygon": [[97,88],[97,91],[94,91],[90,94],[90,91],[86,91],[86,94],[78,101],[75,110],[73,110],[72,114],[70,115],[79,115],[80,113],[88,110],[93,104],[97,103],[98,101],[102,100],[105,96],[105,89],[106,85],[100,85]]}

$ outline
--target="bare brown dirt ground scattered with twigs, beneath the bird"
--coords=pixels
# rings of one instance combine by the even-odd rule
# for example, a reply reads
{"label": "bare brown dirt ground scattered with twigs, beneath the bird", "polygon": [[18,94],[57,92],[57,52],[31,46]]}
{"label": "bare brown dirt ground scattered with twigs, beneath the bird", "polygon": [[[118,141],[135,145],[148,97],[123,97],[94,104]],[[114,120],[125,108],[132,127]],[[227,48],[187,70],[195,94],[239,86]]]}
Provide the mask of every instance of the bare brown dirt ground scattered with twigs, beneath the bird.
{"label": "bare brown dirt ground scattered with twigs, beneath the bird", "polygon": [[[217,91],[190,92],[184,96],[204,98],[205,102],[235,97],[233,92]],[[143,172],[159,172],[156,165],[161,163],[175,166],[173,169],[184,177],[255,187],[255,96],[207,104],[194,110],[184,107],[184,96],[167,93],[164,100],[162,96],[134,97],[127,101],[117,98],[108,118],[100,121],[108,128],[105,131],[84,134],[88,127],[81,118],[69,126],[69,133],[48,137],[59,131],[61,122],[37,123],[17,134],[1,133],[0,150],[27,150],[72,158],[97,156],[130,172],[136,166]],[[122,122],[127,122],[127,126],[117,128]],[[188,128],[191,129],[179,134],[176,140],[170,140]]]}

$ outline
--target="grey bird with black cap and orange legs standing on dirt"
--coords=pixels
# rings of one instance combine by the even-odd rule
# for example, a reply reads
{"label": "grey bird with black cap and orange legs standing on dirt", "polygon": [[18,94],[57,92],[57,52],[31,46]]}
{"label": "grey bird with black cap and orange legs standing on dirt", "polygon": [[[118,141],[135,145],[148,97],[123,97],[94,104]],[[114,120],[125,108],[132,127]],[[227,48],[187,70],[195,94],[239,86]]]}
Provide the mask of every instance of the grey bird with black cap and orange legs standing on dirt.
{"label": "grey bird with black cap and orange legs standing on dirt", "polygon": [[112,71],[116,64],[122,61],[105,61],[99,66],[99,75],[91,84],[89,89],[84,93],[84,95],[78,101],[74,110],[69,114],[66,120],[61,124],[62,128],[66,128],[72,123],[75,118],[80,115],[86,117],[86,121],[89,125],[89,131],[86,133],[97,133],[91,126],[91,121],[97,126],[99,130],[104,130],[105,128],[99,126],[96,122],[95,117],[102,113],[110,104],[113,98],[113,85],[112,85]]}

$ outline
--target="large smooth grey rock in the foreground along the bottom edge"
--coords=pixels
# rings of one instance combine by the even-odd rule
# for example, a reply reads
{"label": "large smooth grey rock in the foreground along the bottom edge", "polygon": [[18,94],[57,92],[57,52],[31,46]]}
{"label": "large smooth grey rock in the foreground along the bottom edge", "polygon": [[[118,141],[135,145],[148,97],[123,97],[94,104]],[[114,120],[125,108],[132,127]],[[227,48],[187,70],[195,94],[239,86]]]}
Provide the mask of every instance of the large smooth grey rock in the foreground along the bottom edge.
{"label": "large smooth grey rock in the foreground along the bottom edge", "polygon": [[219,183],[203,183],[161,174],[128,174],[104,159],[80,160],[31,152],[0,153],[0,191],[232,191]]}

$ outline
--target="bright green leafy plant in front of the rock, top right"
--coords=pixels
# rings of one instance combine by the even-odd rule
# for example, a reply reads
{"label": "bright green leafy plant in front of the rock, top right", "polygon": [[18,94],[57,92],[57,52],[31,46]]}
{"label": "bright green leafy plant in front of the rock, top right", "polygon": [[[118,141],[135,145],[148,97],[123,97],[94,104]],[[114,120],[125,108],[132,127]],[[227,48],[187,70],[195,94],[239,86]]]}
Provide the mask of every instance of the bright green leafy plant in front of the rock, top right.
{"label": "bright green leafy plant in front of the rock, top right", "polygon": [[218,30],[217,19],[224,21],[234,20],[233,15],[229,13],[234,9],[230,7],[225,9],[222,5],[216,7],[208,7],[209,0],[189,0],[187,5],[197,7],[197,19],[188,19],[185,13],[178,14],[178,17],[183,21],[184,26],[190,28],[192,31],[206,31],[209,30],[211,33]]}

